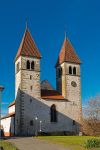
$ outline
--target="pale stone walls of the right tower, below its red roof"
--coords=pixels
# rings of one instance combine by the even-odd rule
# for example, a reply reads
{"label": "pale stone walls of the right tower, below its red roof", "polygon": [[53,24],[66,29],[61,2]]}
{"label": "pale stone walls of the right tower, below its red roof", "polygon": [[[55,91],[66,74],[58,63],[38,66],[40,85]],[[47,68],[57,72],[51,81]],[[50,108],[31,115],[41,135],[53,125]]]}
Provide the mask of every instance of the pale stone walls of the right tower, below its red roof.
{"label": "pale stone walls of the right tower, below its red roof", "polygon": [[[69,67],[72,67],[72,74],[69,74]],[[60,66],[57,67],[56,70],[62,68],[62,76],[59,78],[58,72],[56,74],[57,80],[57,88],[59,84],[61,86],[62,95],[69,101],[68,109],[70,112],[68,113],[68,109],[66,113],[69,118],[75,120],[79,124],[81,124],[82,119],[82,104],[81,104],[81,77],[80,77],[80,65],[75,63],[64,62]],[[73,68],[76,68],[76,75],[73,75]],[[72,82],[74,81],[74,86],[72,86]],[[58,88],[59,89],[59,88]]]}

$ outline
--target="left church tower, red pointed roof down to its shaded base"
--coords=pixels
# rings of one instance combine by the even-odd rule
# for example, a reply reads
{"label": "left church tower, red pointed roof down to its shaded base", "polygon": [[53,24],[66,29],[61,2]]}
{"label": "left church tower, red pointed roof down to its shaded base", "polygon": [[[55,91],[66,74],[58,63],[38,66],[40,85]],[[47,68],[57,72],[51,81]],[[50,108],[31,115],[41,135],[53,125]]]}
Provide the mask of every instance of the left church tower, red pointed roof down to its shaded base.
{"label": "left church tower, red pointed roof down to its shaded base", "polygon": [[32,98],[40,99],[41,54],[26,28],[15,58],[16,135],[25,133],[25,110]]}

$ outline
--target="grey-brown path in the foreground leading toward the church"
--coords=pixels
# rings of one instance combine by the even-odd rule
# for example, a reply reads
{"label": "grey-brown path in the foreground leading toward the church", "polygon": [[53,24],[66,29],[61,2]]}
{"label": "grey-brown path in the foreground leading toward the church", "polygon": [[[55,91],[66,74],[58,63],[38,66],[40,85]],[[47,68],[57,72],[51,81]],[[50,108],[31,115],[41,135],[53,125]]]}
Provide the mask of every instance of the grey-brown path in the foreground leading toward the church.
{"label": "grey-brown path in the foreground leading toward the church", "polygon": [[8,141],[14,144],[19,150],[69,150],[61,145],[33,137],[17,137]]}

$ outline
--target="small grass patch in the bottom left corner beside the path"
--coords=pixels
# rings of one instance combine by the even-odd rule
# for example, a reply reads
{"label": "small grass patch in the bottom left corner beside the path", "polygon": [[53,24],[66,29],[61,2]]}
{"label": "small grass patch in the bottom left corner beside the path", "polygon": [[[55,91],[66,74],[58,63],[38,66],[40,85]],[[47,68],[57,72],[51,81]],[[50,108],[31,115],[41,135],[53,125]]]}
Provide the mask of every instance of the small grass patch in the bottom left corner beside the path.
{"label": "small grass patch in the bottom left corner beside the path", "polygon": [[0,140],[0,146],[4,148],[4,150],[18,150],[11,143],[6,140]]}

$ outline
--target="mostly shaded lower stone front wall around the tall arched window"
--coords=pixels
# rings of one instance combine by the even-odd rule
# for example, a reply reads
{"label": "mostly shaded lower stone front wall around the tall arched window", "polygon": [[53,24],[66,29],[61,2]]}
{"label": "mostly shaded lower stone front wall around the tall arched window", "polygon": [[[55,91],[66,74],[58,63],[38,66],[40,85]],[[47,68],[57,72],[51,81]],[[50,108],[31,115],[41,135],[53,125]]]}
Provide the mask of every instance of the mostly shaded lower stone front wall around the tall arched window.
{"label": "mostly shaded lower stone front wall around the tall arched window", "polygon": [[[68,107],[66,106],[69,103],[68,100],[37,99],[18,90],[15,107],[15,135],[30,136],[38,133],[43,135],[78,134],[81,125],[63,114],[63,110],[67,110]],[[57,118],[56,121],[51,122],[50,108],[52,105],[56,106]],[[61,112],[59,111],[60,107],[62,107]]]}

